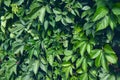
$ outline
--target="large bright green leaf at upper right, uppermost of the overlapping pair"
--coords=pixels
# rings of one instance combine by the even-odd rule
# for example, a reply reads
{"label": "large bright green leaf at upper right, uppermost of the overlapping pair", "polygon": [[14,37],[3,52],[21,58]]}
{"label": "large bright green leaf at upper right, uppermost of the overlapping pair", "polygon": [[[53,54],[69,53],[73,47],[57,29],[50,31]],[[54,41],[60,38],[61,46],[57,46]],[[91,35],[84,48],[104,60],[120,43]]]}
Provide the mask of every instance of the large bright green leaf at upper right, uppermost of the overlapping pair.
{"label": "large bright green leaf at upper right, uppermost of the overlapping pair", "polygon": [[108,14],[108,9],[106,7],[99,7],[97,8],[94,16],[93,16],[93,21],[97,21],[101,18],[103,18],[104,16],[106,16]]}

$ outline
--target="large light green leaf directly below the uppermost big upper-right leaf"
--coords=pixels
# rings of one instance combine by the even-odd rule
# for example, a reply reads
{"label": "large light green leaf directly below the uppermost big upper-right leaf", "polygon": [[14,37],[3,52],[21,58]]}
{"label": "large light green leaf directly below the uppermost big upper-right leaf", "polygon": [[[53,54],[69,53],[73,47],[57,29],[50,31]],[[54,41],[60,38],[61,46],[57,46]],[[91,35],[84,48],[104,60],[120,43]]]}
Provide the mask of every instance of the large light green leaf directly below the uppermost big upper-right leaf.
{"label": "large light green leaf directly below the uppermost big upper-right leaf", "polygon": [[105,16],[101,21],[97,23],[96,31],[103,30],[109,25],[109,17]]}

